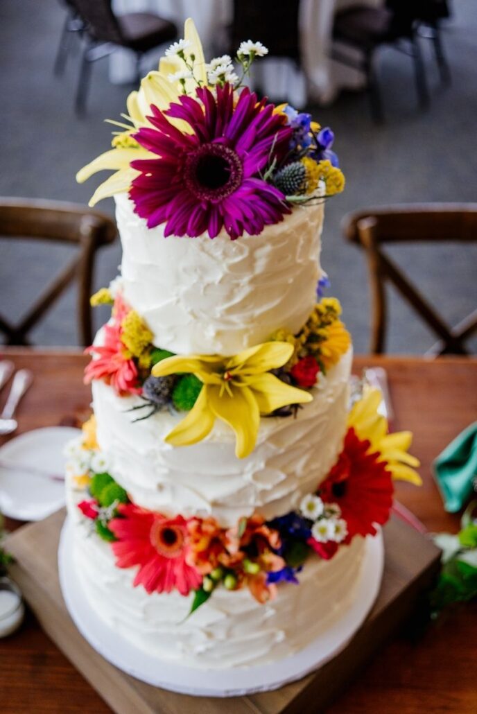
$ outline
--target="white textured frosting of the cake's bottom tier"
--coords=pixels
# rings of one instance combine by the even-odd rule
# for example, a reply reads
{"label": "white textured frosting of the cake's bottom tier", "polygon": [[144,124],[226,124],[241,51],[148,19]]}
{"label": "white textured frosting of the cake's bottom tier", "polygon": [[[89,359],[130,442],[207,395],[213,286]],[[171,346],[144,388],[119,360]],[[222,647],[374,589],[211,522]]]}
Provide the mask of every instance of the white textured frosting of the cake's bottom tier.
{"label": "white textured frosting of the cake's bottom tier", "polygon": [[89,605],[116,633],[158,660],[204,669],[273,663],[333,628],[356,597],[365,550],[360,537],[332,560],[308,558],[299,584],[282,583],[275,600],[261,604],[246,588],[218,588],[188,617],[192,594],[148,595],[134,587],[135,569],[116,566],[109,544],[80,517],[70,485],[68,491],[74,565]]}

